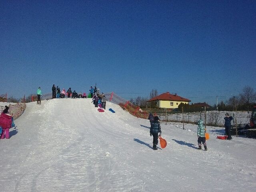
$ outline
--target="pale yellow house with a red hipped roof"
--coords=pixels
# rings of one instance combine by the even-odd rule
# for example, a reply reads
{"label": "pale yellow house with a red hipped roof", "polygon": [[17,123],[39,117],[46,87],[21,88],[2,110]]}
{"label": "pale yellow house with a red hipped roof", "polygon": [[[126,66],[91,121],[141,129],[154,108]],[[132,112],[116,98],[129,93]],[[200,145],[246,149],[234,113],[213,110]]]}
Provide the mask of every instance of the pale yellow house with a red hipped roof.
{"label": "pale yellow house with a red hipped roof", "polygon": [[191,100],[178,96],[177,94],[172,95],[170,92],[166,92],[148,100],[147,102],[149,105],[151,105],[152,102],[156,102],[156,106],[159,108],[175,109],[178,108],[181,103],[189,104]]}

